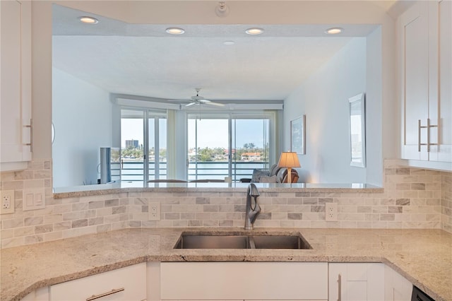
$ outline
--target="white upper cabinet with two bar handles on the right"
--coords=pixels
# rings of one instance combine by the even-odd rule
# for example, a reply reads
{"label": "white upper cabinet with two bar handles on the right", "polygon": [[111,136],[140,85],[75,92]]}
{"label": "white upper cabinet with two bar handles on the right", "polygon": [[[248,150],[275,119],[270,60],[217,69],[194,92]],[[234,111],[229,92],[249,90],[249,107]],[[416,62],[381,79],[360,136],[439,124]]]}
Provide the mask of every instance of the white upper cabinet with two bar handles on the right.
{"label": "white upper cabinet with two bar handles on the right", "polygon": [[452,162],[451,18],[451,1],[419,1],[398,18],[403,159]]}

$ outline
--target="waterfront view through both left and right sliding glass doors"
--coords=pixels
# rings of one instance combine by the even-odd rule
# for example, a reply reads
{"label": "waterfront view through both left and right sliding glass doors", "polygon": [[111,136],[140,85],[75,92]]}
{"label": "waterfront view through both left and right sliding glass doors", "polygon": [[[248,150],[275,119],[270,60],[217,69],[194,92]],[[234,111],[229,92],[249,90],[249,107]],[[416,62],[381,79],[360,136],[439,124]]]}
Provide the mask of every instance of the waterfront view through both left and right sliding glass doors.
{"label": "waterfront view through both left and right sliding glass doors", "polygon": [[[174,179],[167,174],[167,119],[157,113],[121,110],[121,159],[112,165],[121,181]],[[267,117],[189,114],[185,179],[239,181],[251,178],[255,168],[268,168],[269,122]]]}

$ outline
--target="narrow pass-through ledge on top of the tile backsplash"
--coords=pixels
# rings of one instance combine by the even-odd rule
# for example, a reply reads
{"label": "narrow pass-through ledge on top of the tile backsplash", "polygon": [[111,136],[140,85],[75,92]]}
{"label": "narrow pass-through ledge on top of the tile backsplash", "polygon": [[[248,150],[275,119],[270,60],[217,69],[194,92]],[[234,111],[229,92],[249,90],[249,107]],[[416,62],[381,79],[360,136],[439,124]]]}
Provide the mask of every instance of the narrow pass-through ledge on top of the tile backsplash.
{"label": "narrow pass-through ledge on top of the tile backsplash", "polygon": [[[383,188],[370,184],[314,184],[314,183],[255,183],[259,191],[263,192],[360,192],[380,193]],[[246,191],[249,183],[143,183],[118,182],[112,184],[86,185],[76,187],[54,188],[54,198],[64,199],[77,196],[97,196],[103,194],[117,194],[124,192],[212,192],[212,191]]]}

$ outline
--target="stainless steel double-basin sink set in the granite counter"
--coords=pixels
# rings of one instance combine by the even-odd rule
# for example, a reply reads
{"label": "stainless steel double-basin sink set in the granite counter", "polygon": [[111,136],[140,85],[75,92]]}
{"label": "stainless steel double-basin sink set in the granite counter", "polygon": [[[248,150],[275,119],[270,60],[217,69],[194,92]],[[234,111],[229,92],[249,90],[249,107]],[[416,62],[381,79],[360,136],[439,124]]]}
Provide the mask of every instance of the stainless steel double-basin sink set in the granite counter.
{"label": "stainless steel double-basin sink set in the granite counter", "polygon": [[300,234],[184,232],[174,249],[312,249]]}

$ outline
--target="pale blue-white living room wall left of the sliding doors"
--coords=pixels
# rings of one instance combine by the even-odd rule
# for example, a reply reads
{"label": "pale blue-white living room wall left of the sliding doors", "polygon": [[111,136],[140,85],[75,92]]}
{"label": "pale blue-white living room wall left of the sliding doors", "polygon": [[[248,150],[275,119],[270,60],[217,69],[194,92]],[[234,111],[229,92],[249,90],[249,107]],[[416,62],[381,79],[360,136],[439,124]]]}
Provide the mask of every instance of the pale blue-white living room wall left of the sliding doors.
{"label": "pale blue-white living room wall left of the sliding doors", "polygon": [[96,184],[100,147],[112,146],[109,93],[59,69],[52,72],[53,186]]}

